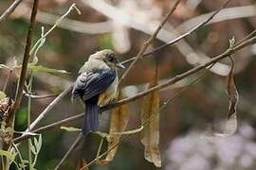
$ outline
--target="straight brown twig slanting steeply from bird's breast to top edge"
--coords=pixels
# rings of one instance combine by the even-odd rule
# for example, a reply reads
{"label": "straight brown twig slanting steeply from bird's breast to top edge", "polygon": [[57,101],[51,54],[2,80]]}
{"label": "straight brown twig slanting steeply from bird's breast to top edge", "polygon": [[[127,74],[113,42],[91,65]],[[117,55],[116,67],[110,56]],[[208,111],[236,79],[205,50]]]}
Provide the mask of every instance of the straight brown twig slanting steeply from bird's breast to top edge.
{"label": "straight brown twig slanting steeply from bird's breast to top edge", "polygon": [[174,3],[174,6],[170,9],[168,14],[164,17],[164,19],[160,23],[160,25],[157,26],[153,35],[143,44],[142,48],[140,48],[139,52],[137,53],[137,57],[135,57],[135,59],[133,60],[131,65],[126,69],[124,74],[120,77],[119,83],[122,82],[122,80],[129,74],[131,69],[137,63],[137,59],[140,59],[142,57],[143,53],[146,51],[146,49],[149,47],[149,45],[155,40],[155,37],[157,36],[157,34],[161,30],[161,28],[164,26],[164,24],[167,22],[168,18],[174,13],[174,10],[177,7],[177,5],[179,4],[179,2],[180,2],[180,0],[176,0],[176,2]]}

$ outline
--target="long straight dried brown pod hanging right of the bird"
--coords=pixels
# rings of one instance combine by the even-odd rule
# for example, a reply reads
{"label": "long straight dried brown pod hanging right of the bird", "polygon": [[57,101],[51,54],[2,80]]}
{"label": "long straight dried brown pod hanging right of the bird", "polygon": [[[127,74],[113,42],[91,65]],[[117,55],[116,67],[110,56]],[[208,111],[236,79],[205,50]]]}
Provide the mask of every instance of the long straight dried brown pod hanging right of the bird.
{"label": "long straight dried brown pod hanging right of the bird", "polygon": [[[156,85],[156,80],[148,88]],[[159,152],[159,92],[155,91],[143,99],[141,121],[146,122],[141,133],[140,141],[145,146],[144,157],[153,162],[156,167],[161,166]]]}

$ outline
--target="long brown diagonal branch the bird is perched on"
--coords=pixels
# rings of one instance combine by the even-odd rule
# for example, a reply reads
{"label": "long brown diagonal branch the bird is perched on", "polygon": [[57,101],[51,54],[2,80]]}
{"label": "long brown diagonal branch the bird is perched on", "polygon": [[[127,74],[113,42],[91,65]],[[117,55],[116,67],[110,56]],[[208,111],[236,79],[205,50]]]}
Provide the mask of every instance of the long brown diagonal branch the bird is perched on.
{"label": "long brown diagonal branch the bird is perched on", "polygon": [[[253,31],[252,33],[254,33],[255,31]],[[181,75],[178,75],[178,76],[174,76],[173,78],[165,81],[164,83],[161,83],[147,91],[144,91],[144,92],[141,92],[141,93],[137,93],[136,95],[132,96],[132,97],[129,97],[129,98],[125,98],[125,99],[122,99],[122,100],[119,100],[118,102],[116,103],[113,103],[113,104],[110,104],[110,105],[107,105],[105,107],[102,107],[101,108],[101,111],[104,111],[104,110],[110,110],[110,109],[113,109],[113,108],[116,108],[116,107],[119,107],[120,105],[124,105],[126,103],[129,103],[129,102],[132,102],[132,101],[135,101],[137,100],[138,98],[141,98],[142,96],[148,94],[148,93],[152,93],[154,91],[157,91],[159,89],[163,89],[163,88],[166,88],[167,86],[170,86],[170,85],[173,85],[174,83],[188,77],[188,76],[192,76],[193,74],[197,73],[198,71],[204,69],[204,68],[207,68],[208,66],[210,66],[211,64],[217,62],[218,60],[220,59],[225,59],[227,57],[229,57],[230,54],[232,53],[235,53],[239,50],[241,50],[242,48],[246,47],[247,45],[250,45],[252,42],[256,42],[256,36],[253,36],[251,37],[252,34],[249,34],[247,36],[247,40],[245,40],[244,42],[237,42],[235,44],[235,46],[232,48],[232,49],[228,49],[226,50],[224,53],[210,59],[209,61],[207,61],[206,63],[204,64],[201,64]],[[243,39],[244,40],[244,39]],[[40,127],[36,130],[33,130],[32,132],[35,132],[35,133],[42,133],[42,132],[45,132],[49,129],[52,129],[54,127],[60,127],[66,123],[69,123],[69,122],[72,122],[72,121],[75,121],[77,119],[80,119],[84,116],[84,113],[80,113],[78,115],[75,115],[75,116],[72,116],[72,117],[69,117],[69,118],[66,118],[64,120],[61,120],[61,121],[58,121],[58,122],[55,122],[53,124],[50,124],[50,125],[47,125],[46,127]],[[22,136],[22,137],[18,137],[16,139],[14,139],[14,143],[20,143],[24,140],[26,140],[27,138],[29,138],[29,135],[25,135],[25,136]]]}

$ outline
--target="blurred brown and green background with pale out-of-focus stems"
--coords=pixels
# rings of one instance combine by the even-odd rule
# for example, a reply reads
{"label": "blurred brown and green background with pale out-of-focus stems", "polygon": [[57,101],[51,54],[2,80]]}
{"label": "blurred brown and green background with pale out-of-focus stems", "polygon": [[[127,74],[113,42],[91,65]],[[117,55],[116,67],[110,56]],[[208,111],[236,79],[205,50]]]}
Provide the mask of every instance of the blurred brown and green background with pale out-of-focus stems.
{"label": "blurred brown and green background with pale out-of-focus stems", "polygon": [[[2,13],[12,1],[1,0]],[[61,69],[68,75],[56,76],[38,73],[34,78],[33,92],[42,94],[61,93],[71,84],[83,62],[89,55],[105,48],[117,52],[121,60],[137,55],[143,42],[149,38],[163,16],[174,5],[172,0],[51,0],[40,1],[33,34],[33,43],[41,35],[41,27],[48,30],[72,3],[76,3],[81,15],[72,10],[63,22],[46,37],[45,45],[38,52],[38,64]],[[150,47],[172,41],[193,26],[202,23],[210,12],[220,8],[224,0],[183,0],[167,24],[159,32],[157,40]],[[256,2],[253,0],[232,0],[227,8],[218,13],[207,26],[202,27],[188,38],[176,42],[155,53],[151,58],[140,59],[127,76],[123,87],[128,95],[143,90],[145,83],[155,75],[155,60],[158,61],[159,78],[166,79],[181,74],[206,59],[223,53],[229,47],[229,39],[241,40],[256,26]],[[14,58],[23,57],[27,26],[32,1],[24,0],[6,22],[0,24],[0,63],[11,66]],[[160,152],[162,168],[167,170],[252,170],[256,168],[256,45],[247,46],[234,54],[235,81],[240,100],[238,104],[238,131],[230,137],[209,142],[200,135],[207,128],[220,130],[229,107],[226,93],[226,75],[229,73],[229,59],[221,60],[207,76],[177,97],[160,113]],[[120,73],[121,74],[121,73]],[[0,70],[0,88],[8,76]],[[160,91],[160,102],[165,102],[177,93],[190,78]],[[13,89],[13,88],[12,88]],[[11,93],[11,92],[10,92]],[[13,93],[13,92],[12,92]],[[34,120],[54,97],[32,99],[31,119]],[[130,103],[128,129],[140,125],[141,101]],[[70,94],[46,115],[37,127],[62,120],[81,113],[82,103],[71,103]],[[82,120],[67,126],[81,127]],[[107,132],[109,112],[101,114],[101,130]],[[15,129],[27,128],[27,97],[19,110]],[[77,133],[60,128],[49,130],[43,135],[43,146],[37,162],[38,169],[52,169],[63,157]],[[94,159],[100,138],[90,135],[77,148],[63,169],[75,169],[82,154],[86,161]],[[104,144],[104,148],[106,144]],[[27,142],[21,144],[21,152],[27,157]],[[119,146],[114,161],[106,166],[94,165],[91,169],[155,169],[154,164],[145,161],[144,150],[135,134]]]}

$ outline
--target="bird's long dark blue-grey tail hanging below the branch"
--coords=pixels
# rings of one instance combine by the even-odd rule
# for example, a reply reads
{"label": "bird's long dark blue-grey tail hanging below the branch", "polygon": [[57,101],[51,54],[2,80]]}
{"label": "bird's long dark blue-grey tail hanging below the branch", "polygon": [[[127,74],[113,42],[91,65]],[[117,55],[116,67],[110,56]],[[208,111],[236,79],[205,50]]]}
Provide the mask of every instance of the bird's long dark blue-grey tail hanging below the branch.
{"label": "bird's long dark blue-grey tail hanging below the branch", "polygon": [[96,131],[99,127],[99,106],[97,101],[86,102],[85,120],[83,122],[82,134],[86,135],[90,131]]}

